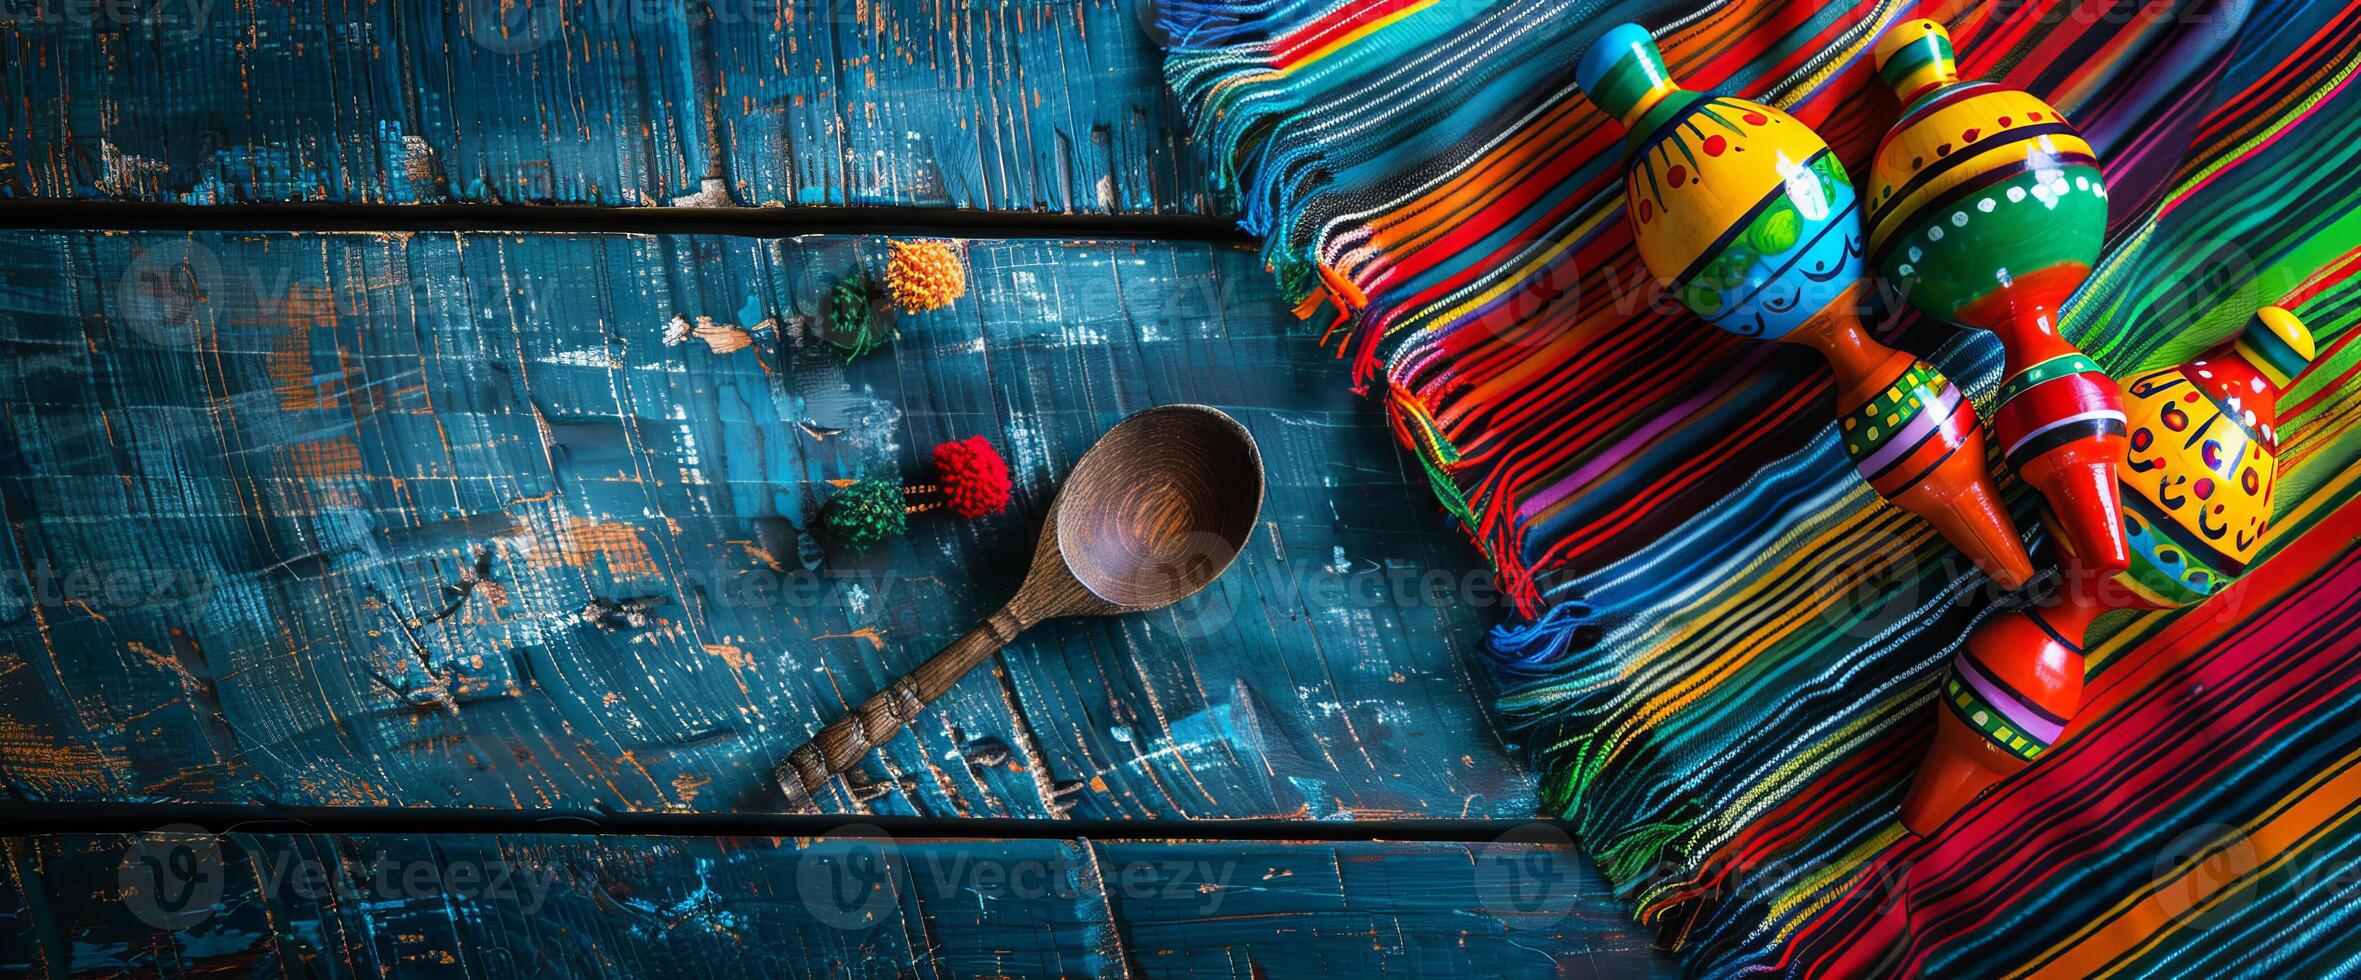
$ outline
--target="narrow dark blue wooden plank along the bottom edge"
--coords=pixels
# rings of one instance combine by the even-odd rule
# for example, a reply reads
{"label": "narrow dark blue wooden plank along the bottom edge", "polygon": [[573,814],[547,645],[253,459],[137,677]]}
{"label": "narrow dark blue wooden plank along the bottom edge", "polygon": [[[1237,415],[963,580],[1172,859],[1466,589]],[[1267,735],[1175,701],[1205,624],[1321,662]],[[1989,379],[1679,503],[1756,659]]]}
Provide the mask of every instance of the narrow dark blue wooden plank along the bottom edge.
{"label": "narrow dark blue wooden plank along the bottom edge", "polygon": [[28,975],[1669,975],[1580,855],[1535,843],[149,834],[0,855],[0,973]]}

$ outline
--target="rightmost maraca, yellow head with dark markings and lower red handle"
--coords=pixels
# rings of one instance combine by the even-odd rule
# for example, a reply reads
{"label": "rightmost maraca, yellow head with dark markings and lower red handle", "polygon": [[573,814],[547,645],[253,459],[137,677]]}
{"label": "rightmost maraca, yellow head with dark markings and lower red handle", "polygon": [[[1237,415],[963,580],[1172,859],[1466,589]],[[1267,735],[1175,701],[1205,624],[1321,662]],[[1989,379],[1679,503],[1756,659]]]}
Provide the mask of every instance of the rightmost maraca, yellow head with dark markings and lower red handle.
{"label": "rightmost maraca, yellow head with dark markings and lower red handle", "polygon": [[2262,307],[2205,357],[2123,385],[2130,567],[2068,581],[2047,605],[1967,638],[1943,680],[1934,746],[1903,801],[1903,827],[1931,834],[2056,741],[2082,706],[2082,638],[2099,614],[2203,602],[2245,574],[2271,522],[2278,392],[2307,361],[2311,331]]}

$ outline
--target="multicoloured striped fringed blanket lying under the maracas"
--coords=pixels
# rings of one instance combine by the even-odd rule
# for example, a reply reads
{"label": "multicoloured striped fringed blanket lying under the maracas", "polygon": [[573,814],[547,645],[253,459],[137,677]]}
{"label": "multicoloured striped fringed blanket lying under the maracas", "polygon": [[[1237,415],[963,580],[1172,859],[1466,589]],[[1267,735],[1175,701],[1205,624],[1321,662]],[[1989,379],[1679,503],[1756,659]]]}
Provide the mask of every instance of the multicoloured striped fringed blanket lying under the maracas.
{"label": "multicoloured striped fringed blanket lying under the maracas", "polygon": [[[1894,810],[1995,588],[1853,475],[1816,354],[1662,300],[1622,132],[1572,83],[1639,21],[1858,179],[1898,113],[1870,47],[1910,17],[2097,146],[2108,246],[2061,326],[2108,373],[2271,302],[2321,349],[2255,571],[2101,619],[2064,741],[1931,838]],[[1162,0],[1157,33],[1280,286],[1509,586],[1492,652],[1544,810],[1683,966],[2356,971],[2361,5]],[[1990,411],[1990,335],[1872,326]]]}

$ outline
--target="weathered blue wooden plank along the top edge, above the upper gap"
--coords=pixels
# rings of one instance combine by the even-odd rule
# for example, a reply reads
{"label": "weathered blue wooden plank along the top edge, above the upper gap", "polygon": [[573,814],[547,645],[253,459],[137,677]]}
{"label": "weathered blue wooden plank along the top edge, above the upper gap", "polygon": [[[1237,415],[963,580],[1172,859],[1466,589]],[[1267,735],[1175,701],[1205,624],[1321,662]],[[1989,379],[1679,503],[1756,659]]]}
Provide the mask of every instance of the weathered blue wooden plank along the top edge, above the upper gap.
{"label": "weathered blue wooden plank along the top edge, above the upper gap", "polygon": [[26,7],[0,19],[0,196],[1211,213],[1138,9]]}

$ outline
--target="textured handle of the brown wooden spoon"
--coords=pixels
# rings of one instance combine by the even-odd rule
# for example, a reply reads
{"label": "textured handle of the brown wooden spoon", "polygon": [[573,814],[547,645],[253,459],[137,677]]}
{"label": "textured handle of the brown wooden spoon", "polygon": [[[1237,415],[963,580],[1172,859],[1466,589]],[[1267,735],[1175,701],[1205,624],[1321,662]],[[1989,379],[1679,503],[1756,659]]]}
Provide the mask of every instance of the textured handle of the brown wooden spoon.
{"label": "textured handle of the brown wooden spoon", "polygon": [[796,751],[786,753],[786,763],[772,775],[779,789],[786,791],[786,801],[796,810],[812,810],[812,791],[836,779],[852,763],[859,763],[869,749],[876,749],[895,737],[902,725],[918,718],[918,711],[933,704],[942,692],[951,690],[959,678],[975,671],[987,656],[996,654],[1008,640],[1015,640],[1027,623],[1018,621],[1008,609],[985,616],[973,631],[951,640],[940,654],[928,656],[916,671],[895,678],[885,690],[869,694],[866,701],[855,706],[848,716],[838,718],[829,727],[822,727],[812,741],[805,741]]}

